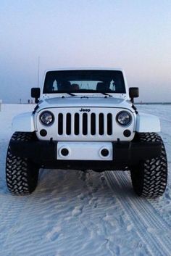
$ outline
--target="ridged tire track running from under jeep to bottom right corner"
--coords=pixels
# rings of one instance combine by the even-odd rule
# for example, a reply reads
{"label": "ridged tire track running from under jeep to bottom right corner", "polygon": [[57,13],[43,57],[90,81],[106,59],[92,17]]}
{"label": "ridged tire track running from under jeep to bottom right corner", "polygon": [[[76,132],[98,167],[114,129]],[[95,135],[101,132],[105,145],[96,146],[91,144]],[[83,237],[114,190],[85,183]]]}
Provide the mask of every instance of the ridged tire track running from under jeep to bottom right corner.
{"label": "ridged tire track running from under jeep to bottom right corner", "polygon": [[[114,187],[116,186],[116,183],[122,189],[129,185],[128,176],[125,177],[120,172],[117,172],[116,174],[117,175],[115,176],[111,171],[105,173],[109,186],[113,191],[115,191]],[[117,176],[119,176],[119,178],[117,178]],[[168,227],[168,224],[161,218],[161,216],[157,215],[154,208],[150,204],[147,204],[147,200],[144,204],[143,202],[145,199],[133,197],[131,194],[125,195],[125,197],[120,197],[118,200],[120,201],[122,208],[127,212],[128,218],[130,218],[135,228],[138,229],[138,236],[141,241],[146,244],[151,255],[169,256],[171,251],[169,236],[157,235],[158,231],[159,233],[161,231],[169,233],[170,227]],[[154,228],[154,234],[149,232],[151,226],[152,230]],[[157,234],[155,234],[155,231],[157,231]]]}

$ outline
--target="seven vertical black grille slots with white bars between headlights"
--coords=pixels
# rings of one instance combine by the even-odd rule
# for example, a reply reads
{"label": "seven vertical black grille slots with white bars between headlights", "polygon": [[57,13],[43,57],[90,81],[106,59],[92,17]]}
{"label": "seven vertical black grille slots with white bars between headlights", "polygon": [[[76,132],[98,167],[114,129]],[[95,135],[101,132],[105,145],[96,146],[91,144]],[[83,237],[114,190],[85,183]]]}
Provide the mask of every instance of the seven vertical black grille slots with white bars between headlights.
{"label": "seven vertical black grille slots with white bars between headlights", "polygon": [[59,113],[57,133],[59,136],[112,135],[111,113]]}

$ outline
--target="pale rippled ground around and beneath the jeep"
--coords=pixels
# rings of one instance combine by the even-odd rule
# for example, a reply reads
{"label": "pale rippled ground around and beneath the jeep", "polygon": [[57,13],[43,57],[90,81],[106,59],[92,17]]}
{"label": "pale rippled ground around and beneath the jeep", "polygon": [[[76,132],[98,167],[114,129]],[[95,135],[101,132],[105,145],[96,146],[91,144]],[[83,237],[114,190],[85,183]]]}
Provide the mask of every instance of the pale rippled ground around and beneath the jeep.
{"label": "pale rippled ground around and beneath the jeep", "polygon": [[[3,104],[0,112],[0,255],[171,255],[171,184],[159,199],[133,193],[129,173],[41,170],[27,197],[7,191],[5,158],[14,115],[33,105]],[[158,115],[171,169],[171,105],[140,105]]]}

